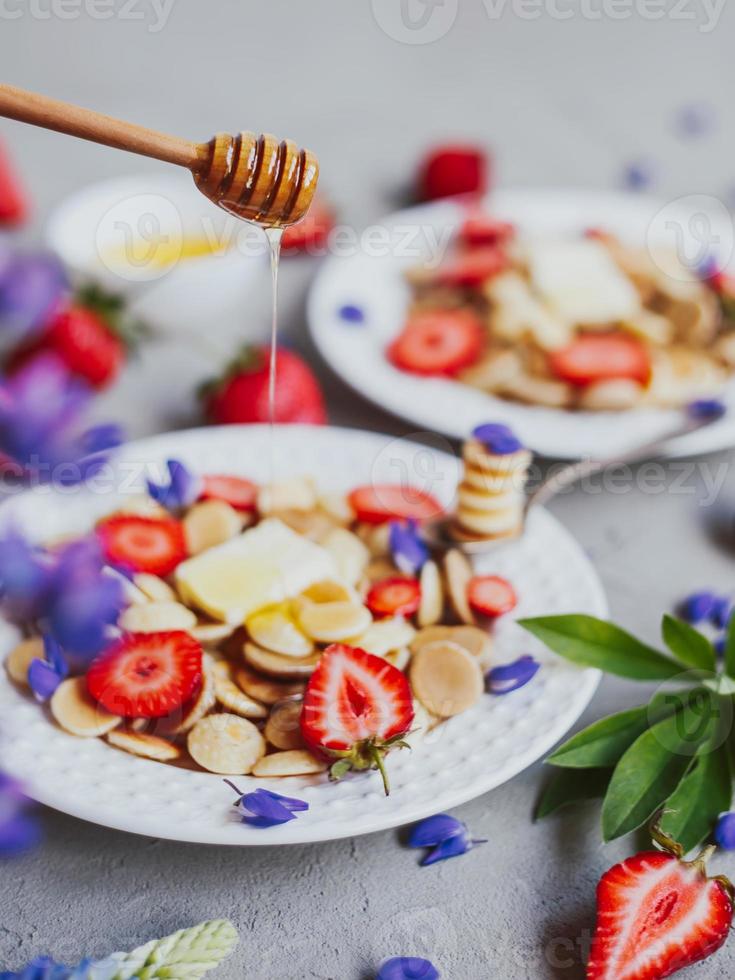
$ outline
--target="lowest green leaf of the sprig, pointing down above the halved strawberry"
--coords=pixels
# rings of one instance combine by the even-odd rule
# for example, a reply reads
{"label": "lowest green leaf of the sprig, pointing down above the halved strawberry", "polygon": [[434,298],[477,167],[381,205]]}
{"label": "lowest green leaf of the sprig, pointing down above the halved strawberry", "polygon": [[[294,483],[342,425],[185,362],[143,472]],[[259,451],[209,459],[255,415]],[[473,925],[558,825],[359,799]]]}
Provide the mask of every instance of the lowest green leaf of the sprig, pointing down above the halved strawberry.
{"label": "lowest green leaf of the sprig, pointing down above the halved strawberry", "polygon": [[705,747],[691,771],[666,801],[661,829],[691,851],[707,837],[732,802],[732,776],[726,745]]}

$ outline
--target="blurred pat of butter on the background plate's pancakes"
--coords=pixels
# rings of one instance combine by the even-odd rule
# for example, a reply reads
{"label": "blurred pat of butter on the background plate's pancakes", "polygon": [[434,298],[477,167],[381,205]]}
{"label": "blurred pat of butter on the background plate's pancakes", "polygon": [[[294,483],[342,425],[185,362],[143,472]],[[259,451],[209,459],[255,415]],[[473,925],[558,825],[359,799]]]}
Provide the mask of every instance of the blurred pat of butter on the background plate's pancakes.
{"label": "blurred pat of butter on the background plate's pancakes", "polygon": [[530,242],[527,255],[536,292],[569,323],[614,323],[641,308],[633,283],[599,242]]}

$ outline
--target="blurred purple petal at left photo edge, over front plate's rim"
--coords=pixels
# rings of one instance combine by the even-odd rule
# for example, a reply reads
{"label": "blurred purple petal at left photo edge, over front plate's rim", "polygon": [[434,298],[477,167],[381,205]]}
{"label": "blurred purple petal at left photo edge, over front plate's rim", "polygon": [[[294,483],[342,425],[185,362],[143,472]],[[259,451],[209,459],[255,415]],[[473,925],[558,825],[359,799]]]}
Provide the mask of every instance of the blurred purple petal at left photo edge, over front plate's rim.
{"label": "blurred purple petal at left photo edge, over front plate's rim", "polygon": [[0,605],[18,622],[36,619],[53,581],[52,563],[17,531],[0,539]]}

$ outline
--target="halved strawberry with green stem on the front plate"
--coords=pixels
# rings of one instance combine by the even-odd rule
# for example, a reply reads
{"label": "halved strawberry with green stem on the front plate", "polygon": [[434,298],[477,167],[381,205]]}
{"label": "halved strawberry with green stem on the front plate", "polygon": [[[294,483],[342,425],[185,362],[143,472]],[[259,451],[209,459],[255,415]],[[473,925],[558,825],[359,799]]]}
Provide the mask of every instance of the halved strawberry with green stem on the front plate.
{"label": "halved strawberry with green stem on the front plate", "polygon": [[411,689],[400,670],[365,650],[333,643],[304,693],[301,732],[312,752],[332,760],[332,779],[378,769],[387,796],[383,759],[406,746],[413,716]]}

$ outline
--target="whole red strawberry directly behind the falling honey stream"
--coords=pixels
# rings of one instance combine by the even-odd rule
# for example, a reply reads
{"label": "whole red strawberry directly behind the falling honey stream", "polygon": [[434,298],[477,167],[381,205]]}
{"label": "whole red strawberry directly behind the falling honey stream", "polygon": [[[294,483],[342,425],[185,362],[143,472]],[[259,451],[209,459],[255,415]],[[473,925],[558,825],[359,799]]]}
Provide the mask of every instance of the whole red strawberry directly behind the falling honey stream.
{"label": "whole red strawberry directly behind the falling honey stream", "polygon": [[[311,368],[293,351],[279,348],[276,359],[274,422],[324,425],[327,413],[319,382]],[[203,391],[210,422],[268,422],[270,348],[248,347],[224,376]]]}

